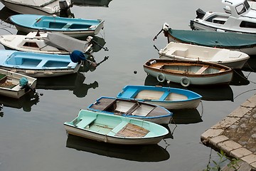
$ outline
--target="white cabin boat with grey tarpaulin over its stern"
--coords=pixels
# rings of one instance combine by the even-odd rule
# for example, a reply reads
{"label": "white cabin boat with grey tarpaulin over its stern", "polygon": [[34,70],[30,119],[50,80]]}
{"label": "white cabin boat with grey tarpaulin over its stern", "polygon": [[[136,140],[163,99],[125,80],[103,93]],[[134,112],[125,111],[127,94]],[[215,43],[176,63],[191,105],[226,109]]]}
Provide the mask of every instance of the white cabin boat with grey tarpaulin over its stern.
{"label": "white cabin boat with grey tarpaulin over its stern", "polygon": [[8,50],[68,55],[75,50],[87,53],[91,50],[92,37],[87,41],[66,36],[63,33],[30,32],[27,35],[1,35],[0,43]]}

